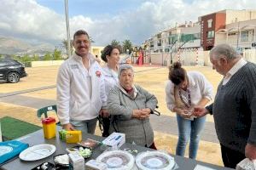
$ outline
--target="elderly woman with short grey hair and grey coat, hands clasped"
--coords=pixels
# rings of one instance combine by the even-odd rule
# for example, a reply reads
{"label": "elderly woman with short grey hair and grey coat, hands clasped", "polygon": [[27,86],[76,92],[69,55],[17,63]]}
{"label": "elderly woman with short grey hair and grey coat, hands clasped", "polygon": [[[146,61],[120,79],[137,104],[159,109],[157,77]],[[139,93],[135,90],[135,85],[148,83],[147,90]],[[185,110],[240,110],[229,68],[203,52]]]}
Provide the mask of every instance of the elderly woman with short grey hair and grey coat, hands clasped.
{"label": "elderly woman with short grey hair and grey coat, hands clasped", "polygon": [[118,76],[118,86],[108,94],[108,112],[113,115],[109,131],[125,133],[126,142],[156,150],[149,116],[157,105],[157,99],[133,84],[131,65],[120,65]]}

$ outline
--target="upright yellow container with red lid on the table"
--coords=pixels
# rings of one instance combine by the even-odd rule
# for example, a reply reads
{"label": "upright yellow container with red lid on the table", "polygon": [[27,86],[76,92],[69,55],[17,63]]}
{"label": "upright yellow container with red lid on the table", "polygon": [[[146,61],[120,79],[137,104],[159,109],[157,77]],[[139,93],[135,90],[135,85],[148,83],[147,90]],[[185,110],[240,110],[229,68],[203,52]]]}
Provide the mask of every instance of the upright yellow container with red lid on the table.
{"label": "upright yellow container with red lid on the table", "polygon": [[47,117],[42,120],[44,138],[52,139],[56,136],[56,121],[53,117]]}

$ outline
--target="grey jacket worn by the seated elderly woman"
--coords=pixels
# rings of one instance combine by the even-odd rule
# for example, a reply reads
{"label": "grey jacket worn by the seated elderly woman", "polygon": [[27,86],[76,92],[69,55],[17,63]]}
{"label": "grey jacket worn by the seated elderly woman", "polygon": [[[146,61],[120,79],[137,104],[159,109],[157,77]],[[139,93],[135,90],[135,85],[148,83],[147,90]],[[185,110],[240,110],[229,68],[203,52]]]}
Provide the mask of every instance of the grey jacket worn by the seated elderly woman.
{"label": "grey jacket worn by the seated elderly woman", "polygon": [[134,142],[141,146],[149,147],[154,142],[154,132],[150,125],[149,118],[139,120],[132,118],[132,111],[149,108],[154,111],[157,99],[145,89],[135,86],[137,95],[135,99],[125,93],[120,87],[114,87],[108,94],[108,111],[115,117],[111,123],[109,132],[114,132],[113,124],[119,133],[125,133],[125,140],[128,143]]}

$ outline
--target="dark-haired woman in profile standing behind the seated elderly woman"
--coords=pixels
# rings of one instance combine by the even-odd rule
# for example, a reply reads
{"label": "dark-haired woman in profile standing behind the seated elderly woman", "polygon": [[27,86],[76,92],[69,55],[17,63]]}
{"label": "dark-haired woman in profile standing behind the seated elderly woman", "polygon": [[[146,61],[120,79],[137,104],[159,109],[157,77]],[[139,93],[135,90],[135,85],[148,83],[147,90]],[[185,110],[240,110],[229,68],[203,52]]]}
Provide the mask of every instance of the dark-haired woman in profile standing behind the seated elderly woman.
{"label": "dark-haired woman in profile standing behind the seated elderly woman", "polygon": [[[106,94],[109,94],[111,88],[113,88],[118,82],[118,69],[119,69],[119,54],[121,49],[119,46],[108,45],[102,51],[102,60],[105,61],[106,65],[102,68],[102,75],[104,77]],[[102,115],[103,121],[103,137],[109,135],[109,118],[108,115]]]}

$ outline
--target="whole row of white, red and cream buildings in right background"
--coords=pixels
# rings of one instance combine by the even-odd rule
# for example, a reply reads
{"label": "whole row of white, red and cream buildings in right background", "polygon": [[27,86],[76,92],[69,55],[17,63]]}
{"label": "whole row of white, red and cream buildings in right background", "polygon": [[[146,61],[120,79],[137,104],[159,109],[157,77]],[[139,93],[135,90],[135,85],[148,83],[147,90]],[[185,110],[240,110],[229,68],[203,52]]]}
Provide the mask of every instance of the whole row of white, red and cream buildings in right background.
{"label": "whole row of white, red and cream buildings in right background", "polygon": [[177,49],[210,50],[219,43],[236,48],[252,48],[256,42],[256,10],[224,9],[198,17],[195,23],[185,22],[160,31],[143,42],[150,52],[177,52]]}

